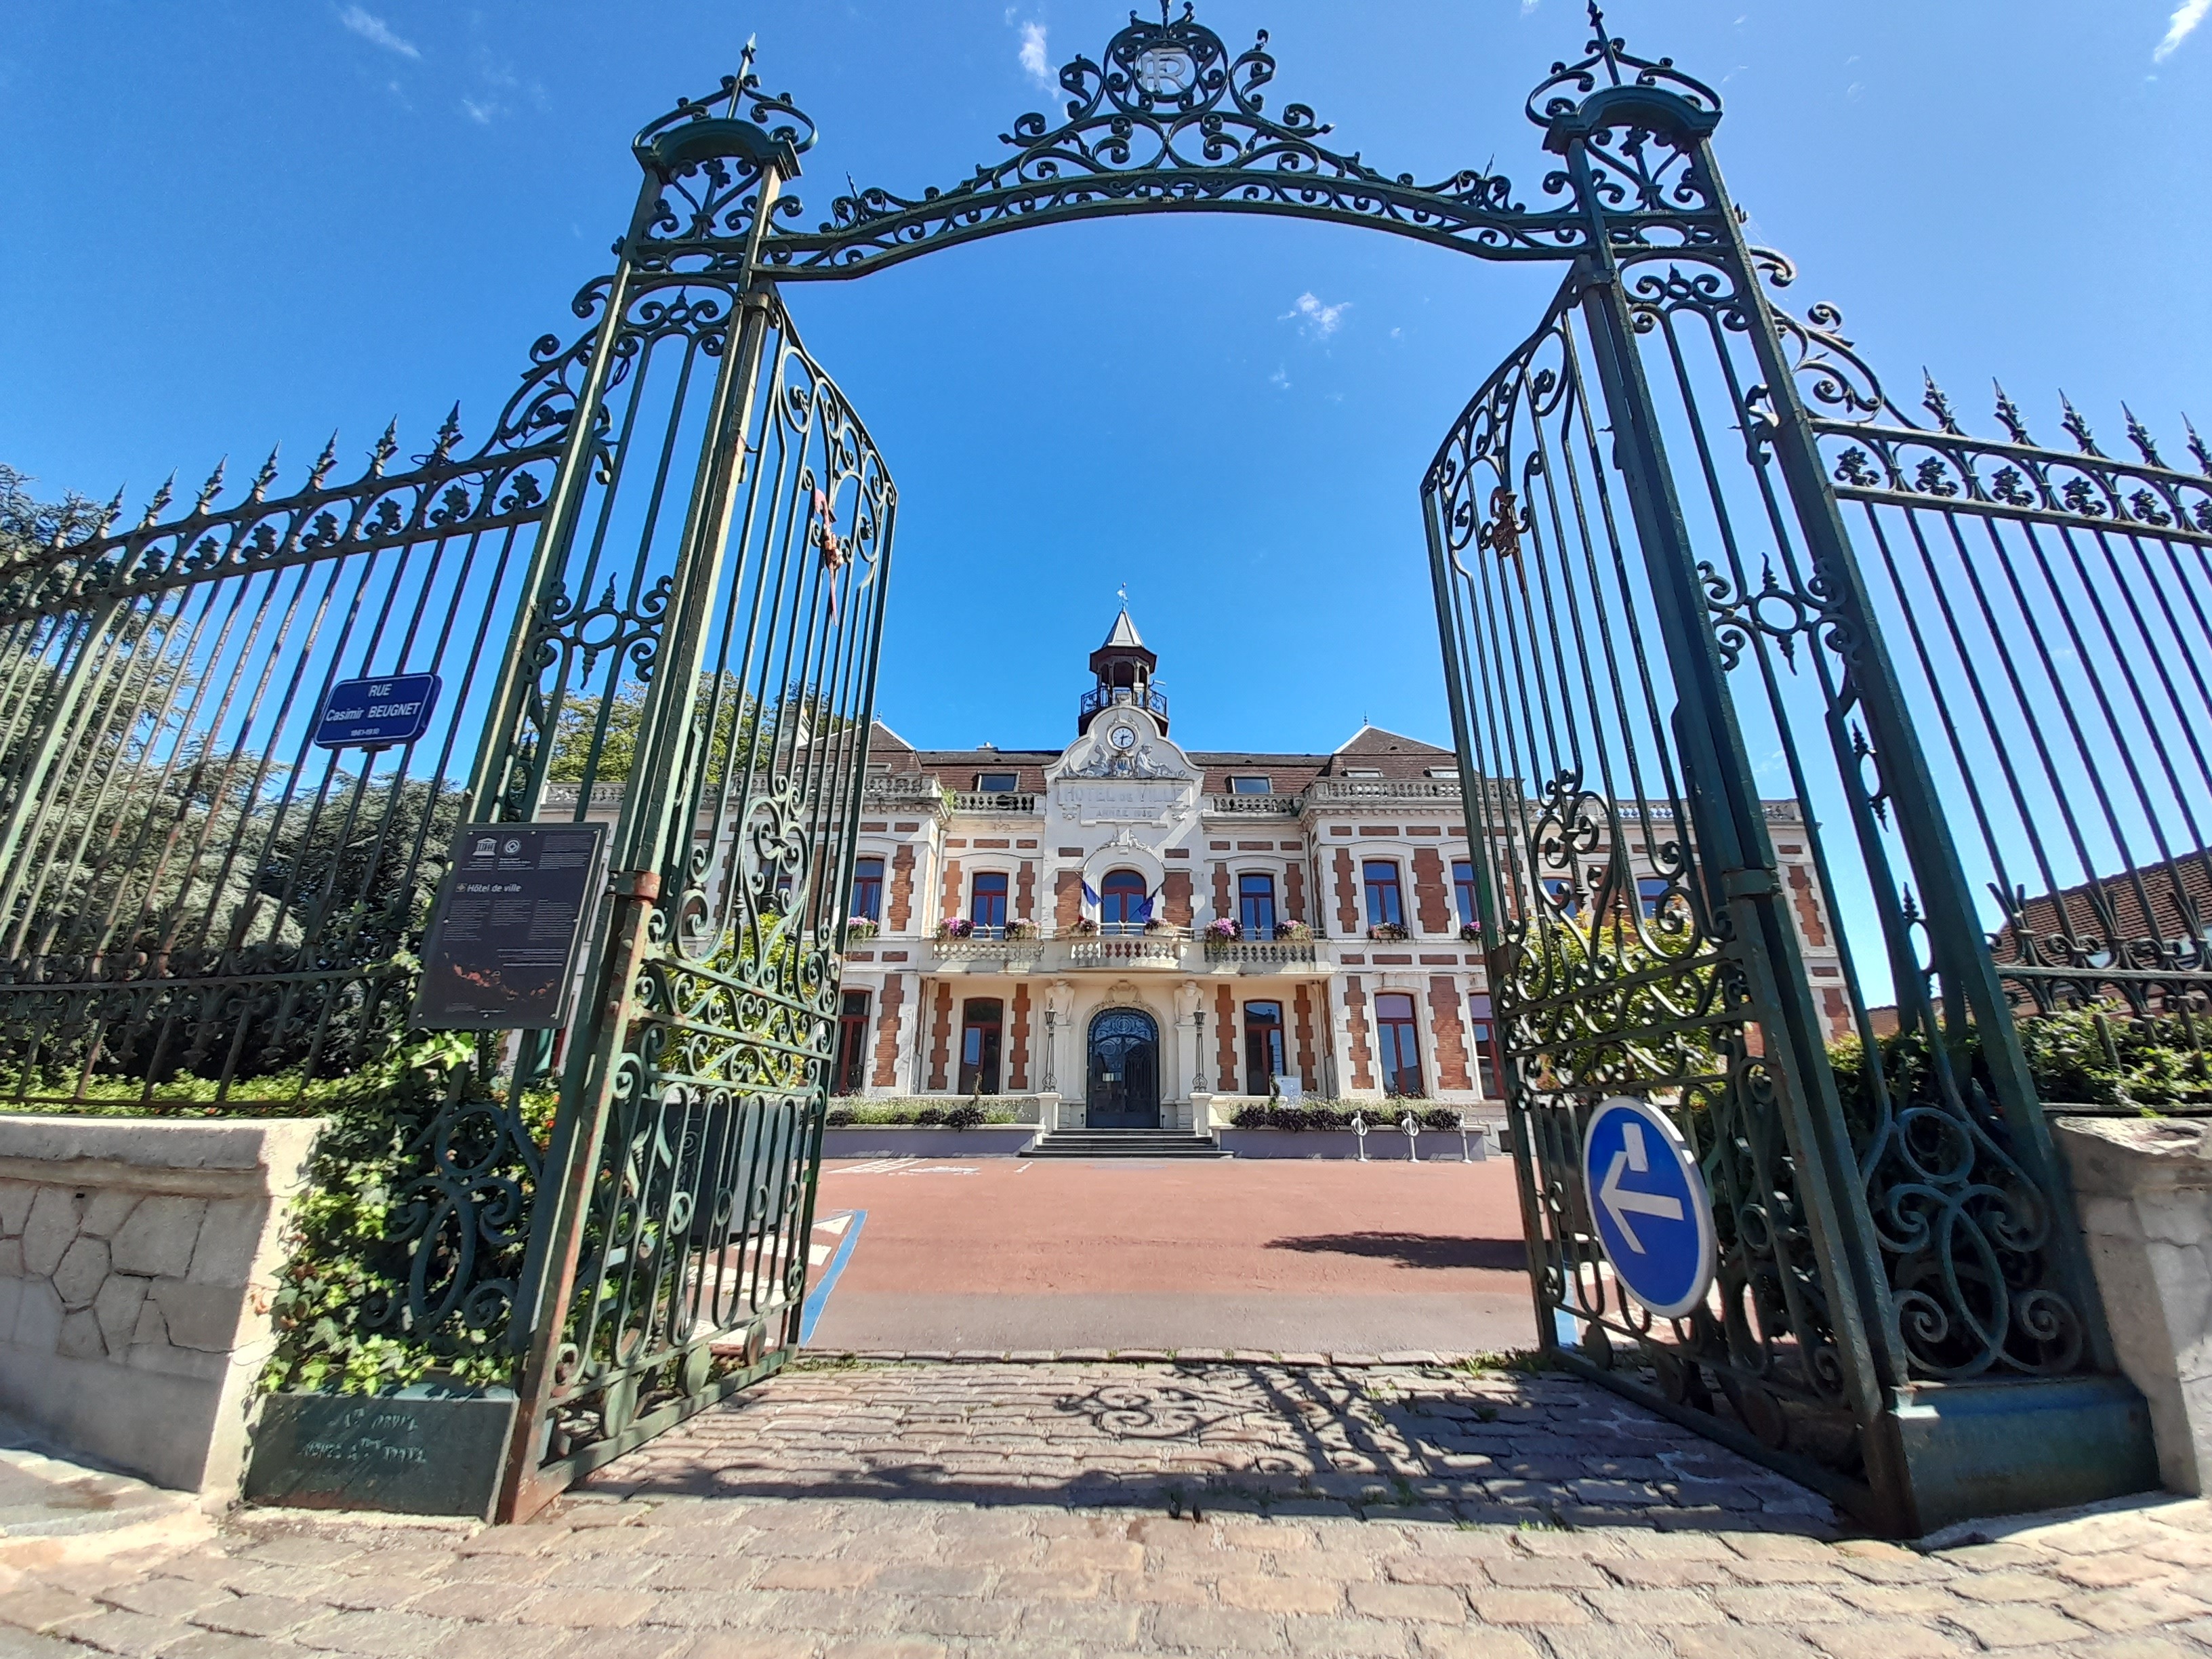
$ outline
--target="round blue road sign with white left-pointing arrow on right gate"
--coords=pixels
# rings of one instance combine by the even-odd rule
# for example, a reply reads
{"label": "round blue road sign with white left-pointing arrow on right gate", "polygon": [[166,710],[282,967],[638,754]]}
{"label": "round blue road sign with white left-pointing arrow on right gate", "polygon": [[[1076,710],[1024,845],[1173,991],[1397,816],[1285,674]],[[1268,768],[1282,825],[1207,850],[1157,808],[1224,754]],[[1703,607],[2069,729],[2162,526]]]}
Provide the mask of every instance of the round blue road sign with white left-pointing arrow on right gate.
{"label": "round blue road sign with white left-pointing arrow on right gate", "polygon": [[1615,1095],[1582,1135],[1582,1183],[1613,1279],[1659,1318],[1712,1287],[1712,1199],[1690,1148],[1657,1106]]}

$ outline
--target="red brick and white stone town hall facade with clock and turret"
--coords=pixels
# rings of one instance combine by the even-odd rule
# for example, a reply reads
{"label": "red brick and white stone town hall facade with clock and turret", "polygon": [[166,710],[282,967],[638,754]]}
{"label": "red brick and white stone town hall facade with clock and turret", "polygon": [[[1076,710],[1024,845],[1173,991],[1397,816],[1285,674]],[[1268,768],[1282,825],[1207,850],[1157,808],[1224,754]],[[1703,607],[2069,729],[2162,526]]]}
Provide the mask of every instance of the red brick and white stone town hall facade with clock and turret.
{"label": "red brick and white stone town hall facade with clock and turret", "polygon": [[[1451,750],[1374,726],[1329,752],[1183,750],[1139,653],[1121,617],[1093,657],[1099,690],[1068,748],[922,750],[876,728],[858,854],[883,863],[887,902],[883,933],[849,951],[845,987],[867,991],[880,1020],[896,1009],[902,1064],[887,1079],[878,1062],[867,1093],[967,1093],[962,1031],[995,1006],[998,1091],[1057,1093],[1062,1121],[1082,1121],[1091,1022],[1139,1009],[1159,1029],[1161,1121],[1188,1124],[1192,1095],[1265,1093],[1252,1060],[1272,1051],[1252,1031],[1272,1009],[1281,1075],[1310,1095],[1380,1102],[1391,1079],[1376,1020],[1391,998],[1418,1029],[1425,1097],[1502,1106],[1482,1093],[1498,1068],[1478,1066],[1471,1044],[1489,1022],[1471,1004],[1482,949],[1460,933],[1453,867],[1471,854]],[[1812,860],[1792,841],[1796,803],[1767,816],[1814,984],[1834,982],[1840,1002]],[[1405,938],[1369,936],[1376,865],[1396,876]],[[1115,872],[1141,878],[1150,931],[1102,922]],[[945,918],[973,918],[978,876],[1004,876],[1006,916],[1033,916],[1037,938],[940,938]],[[1254,938],[1274,929],[1250,927],[1248,889],[1265,900],[1259,916],[1272,907],[1281,931],[1312,938]],[[911,907],[898,902],[907,891]],[[1206,942],[1223,918],[1245,938]],[[1217,1119],[1228,1106],[1214,1104]]]}

